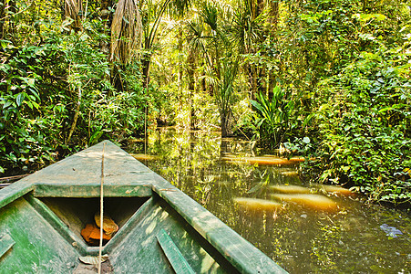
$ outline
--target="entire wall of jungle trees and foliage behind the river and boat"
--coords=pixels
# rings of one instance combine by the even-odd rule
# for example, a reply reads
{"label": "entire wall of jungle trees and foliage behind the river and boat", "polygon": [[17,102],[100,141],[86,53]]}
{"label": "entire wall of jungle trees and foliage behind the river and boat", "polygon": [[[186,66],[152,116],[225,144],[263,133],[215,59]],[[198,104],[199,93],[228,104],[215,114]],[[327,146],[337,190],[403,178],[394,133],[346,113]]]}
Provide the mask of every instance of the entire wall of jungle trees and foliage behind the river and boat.
{"label": "entire wall of jungle trees and foliage behind the river and boat", "polygon": [[[0,172],[149,122],[314,159],[315,181],[410,195],[407,0],[1,0]],[[310,175],[308,175],[310,174]]]}

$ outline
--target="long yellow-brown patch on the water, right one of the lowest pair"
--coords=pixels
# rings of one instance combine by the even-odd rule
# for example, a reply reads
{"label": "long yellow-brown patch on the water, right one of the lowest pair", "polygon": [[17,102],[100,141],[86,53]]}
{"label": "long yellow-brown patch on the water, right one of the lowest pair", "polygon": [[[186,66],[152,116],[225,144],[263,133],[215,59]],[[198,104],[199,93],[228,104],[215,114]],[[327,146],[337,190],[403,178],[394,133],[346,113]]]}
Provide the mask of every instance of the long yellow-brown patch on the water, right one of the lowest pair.
{"label": "long yellow-brown patch on the water, right one of the lowest pair", "polygon": [[325,197],[324,195],[313,195],[313,194],[273,194],[272,198],[293,202],[299,205],[304,205],[314,209],[321,210],[335,210],[338,204],[332,199]]}

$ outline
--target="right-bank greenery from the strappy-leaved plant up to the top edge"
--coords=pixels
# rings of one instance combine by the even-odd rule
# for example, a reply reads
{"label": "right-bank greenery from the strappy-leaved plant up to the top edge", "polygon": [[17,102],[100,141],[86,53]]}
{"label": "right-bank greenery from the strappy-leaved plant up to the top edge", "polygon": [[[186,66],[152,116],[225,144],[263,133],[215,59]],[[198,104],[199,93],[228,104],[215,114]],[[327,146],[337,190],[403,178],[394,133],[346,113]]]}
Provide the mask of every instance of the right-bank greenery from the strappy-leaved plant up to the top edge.
{"label": "right-bank greenery from the strappy-leaved plant up to the top edge", "polygon": [[[297,62],[277,74],[283,91],[276,87],[251,100],[253,112],[241,121],[242,132],[268,149],[283,147],[313,159],[303,165],[308,180],[354,187],[370,201],[409,204],[409,7],[325,2],[307,4],[303,14],[284,22],[299,32],[300,44],[292,48],[300,48],[303,62],[284,53],[290,47],[280,50],[280,63]],[[292,19],[303,27],[290,25]]]}

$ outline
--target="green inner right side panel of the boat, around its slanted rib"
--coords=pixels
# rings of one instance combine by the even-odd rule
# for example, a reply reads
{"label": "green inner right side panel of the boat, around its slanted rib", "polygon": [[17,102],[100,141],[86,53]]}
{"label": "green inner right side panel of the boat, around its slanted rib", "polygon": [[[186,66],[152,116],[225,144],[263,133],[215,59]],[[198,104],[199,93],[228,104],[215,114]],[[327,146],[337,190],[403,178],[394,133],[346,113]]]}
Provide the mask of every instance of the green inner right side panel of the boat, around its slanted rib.
{"label": "green inner right side panel of the boat, around its slanted rib", "polygon": [[214,259],[218,254],[212,254],[207,242],[158,195],[153,196],[147,209],[121,244],[108,253],[115,273],[175,273],[158,244],[156,236],[161,229],[170,232],[196,273],[238,273],[231,265],[222,268]]}

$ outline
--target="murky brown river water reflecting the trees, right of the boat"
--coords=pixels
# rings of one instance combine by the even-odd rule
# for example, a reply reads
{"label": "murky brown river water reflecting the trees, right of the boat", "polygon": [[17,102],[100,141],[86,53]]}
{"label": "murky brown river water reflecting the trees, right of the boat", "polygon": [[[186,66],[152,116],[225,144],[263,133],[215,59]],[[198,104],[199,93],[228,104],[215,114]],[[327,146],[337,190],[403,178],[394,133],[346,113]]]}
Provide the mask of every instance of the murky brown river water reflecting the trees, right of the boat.
{"label": "murky brown river water reflecting the trees, right of the boat", "polygon": [[[409,210],[319,192],[300,181],[298,163],[227,161],[261,152],[250,142],[221,139],[220,132],[160,128],[149,133],[147,145],[136,140],[127,150],[291,273],[410,273]],[[235,202],[272,200],[272,185],[307,187],[337,206],[322,210],[283,202],[259,210]]]}

